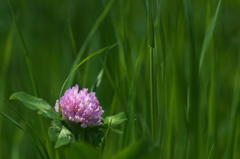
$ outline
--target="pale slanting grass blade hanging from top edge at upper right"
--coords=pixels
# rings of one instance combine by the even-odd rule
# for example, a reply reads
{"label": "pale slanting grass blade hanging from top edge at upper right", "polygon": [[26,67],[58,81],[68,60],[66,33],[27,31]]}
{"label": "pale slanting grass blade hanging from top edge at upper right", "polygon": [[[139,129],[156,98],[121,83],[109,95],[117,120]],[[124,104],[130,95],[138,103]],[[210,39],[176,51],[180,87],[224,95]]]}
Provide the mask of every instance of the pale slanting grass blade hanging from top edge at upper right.
{"label": "pale slanting grass blade hanging from top edge at upper right", "polygon": [[214,15],[213,19],[211,20],[211,22],[208,26],[208,29],[207,29],[207,32],[206,32],[206,35],[205,35],[205,38],[204,38],[202,51],[201,51],[201,56],[200,56],[200,61],[199,61],[199,71],[201,71],[203,60],[204,60],[207,48],[209,46],[210,40],[212,38],[214,27],[215,27],[215,24],[217,22],[217,17],[218,17],[218,14],[219,14],[221,2],[222,2],[222,0],[218,1],[218,6],[217,6],[217,9],[216,9],[215,15]]}

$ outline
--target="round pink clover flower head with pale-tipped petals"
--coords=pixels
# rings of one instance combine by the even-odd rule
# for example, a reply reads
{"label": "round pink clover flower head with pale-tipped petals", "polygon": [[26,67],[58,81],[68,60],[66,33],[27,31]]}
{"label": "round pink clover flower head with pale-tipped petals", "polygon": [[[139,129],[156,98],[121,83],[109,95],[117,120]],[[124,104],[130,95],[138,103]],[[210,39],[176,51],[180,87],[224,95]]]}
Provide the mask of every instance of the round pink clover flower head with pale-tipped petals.
{"label": "round pink clover flower head with pale-tipped petals", "polygon": [[102,124],[102,107],[95,93],[88,93],[88,89],[84,88],[78,91],[78,85],[68,89],[64,96],[57,100],[55,104],[56,112],[59,112],[61,107],[63,118],[81,123],[82,128],[87,126],[99,126]]}

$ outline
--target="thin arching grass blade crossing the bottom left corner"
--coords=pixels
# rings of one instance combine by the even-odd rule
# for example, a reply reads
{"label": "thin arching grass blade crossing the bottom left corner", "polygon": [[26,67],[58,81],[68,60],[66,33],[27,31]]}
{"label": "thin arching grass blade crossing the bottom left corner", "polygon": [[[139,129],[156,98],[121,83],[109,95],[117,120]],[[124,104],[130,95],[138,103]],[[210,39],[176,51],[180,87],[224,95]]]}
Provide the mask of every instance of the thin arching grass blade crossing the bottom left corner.
{"label": "thin arching grass blade crossing the bottom left corner", "polygon": [[8,119],[10,122],[12,122],[15,126],[17,126],[19,129],[21,129],[23,132],[25,132],[28,137],[32,140],[32,142],[34,143],[34,145],[36,146],[39,155],[42,159],[45,159],[47,156],[44,156],[43,153],[41,152],[40,148],[38,147],[36,141],[32,138],[32,136],[13,118],[11,118],[10,116],[8,116],[7,114],[5,114],[4,112],[0,111],[0,114],[5,117],[6,119]]}

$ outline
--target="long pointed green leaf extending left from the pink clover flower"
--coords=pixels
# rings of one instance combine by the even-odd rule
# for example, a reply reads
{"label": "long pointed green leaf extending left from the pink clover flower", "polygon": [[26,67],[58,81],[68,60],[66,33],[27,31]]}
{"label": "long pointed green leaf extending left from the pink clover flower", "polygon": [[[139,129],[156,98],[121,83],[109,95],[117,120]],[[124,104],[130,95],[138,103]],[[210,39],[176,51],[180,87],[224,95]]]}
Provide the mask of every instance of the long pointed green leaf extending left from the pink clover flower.
{"label": "long pointed green leaf extending left from the pink clover flower", "polygon": [[58,113],[46,101],[31,96],[24,92],[17,92],[11,95],[10,99],[20,100],[27,108],[37,110],[38,114],[51,119],[58,119]]}

